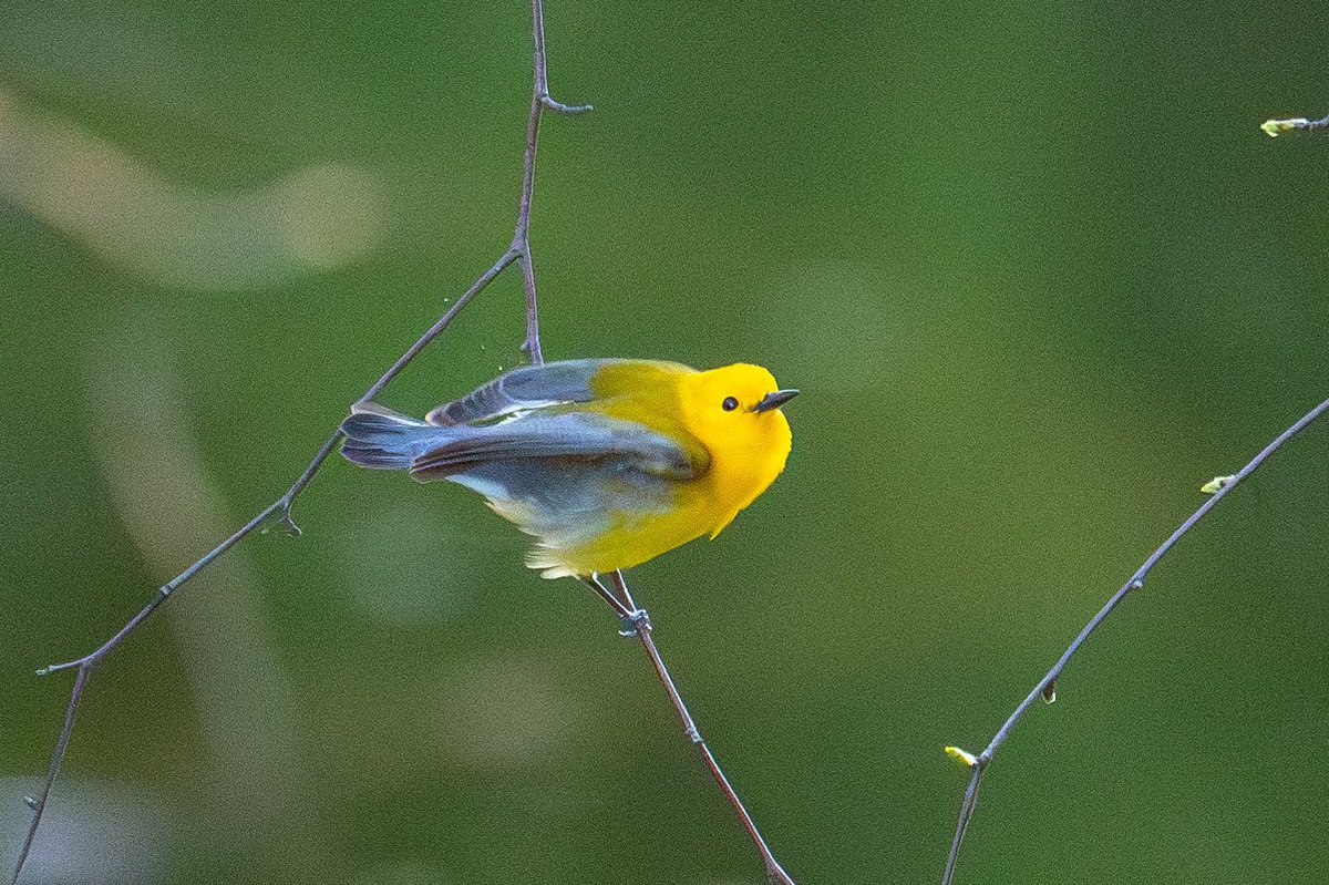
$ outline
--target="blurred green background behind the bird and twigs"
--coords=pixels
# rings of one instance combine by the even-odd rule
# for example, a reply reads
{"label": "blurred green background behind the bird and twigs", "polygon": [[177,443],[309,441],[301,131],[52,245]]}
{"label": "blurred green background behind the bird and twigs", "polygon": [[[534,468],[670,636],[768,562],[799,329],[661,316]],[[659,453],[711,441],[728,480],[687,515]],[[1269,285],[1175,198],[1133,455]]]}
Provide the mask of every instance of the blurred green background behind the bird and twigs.
{"label": "blurred green background behind the bird and twigs", "polygon": [[[784,477],[634,570],[799,882],[940,877],[1103,599],[1329,395],[1320,4],[577,4],[549,359],[748,360]],[[68,676],[299,474],[505,247],[512,4],[0,13],[0,854]],[[501,278],[381,397],[522,357]],[[1160,566],[990,769],[961,882],[1322,882],[1329,427]],[[738,885],[641,648],[457,488],[328,461],[97,671],[40,882]]]}

